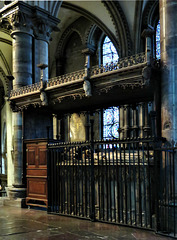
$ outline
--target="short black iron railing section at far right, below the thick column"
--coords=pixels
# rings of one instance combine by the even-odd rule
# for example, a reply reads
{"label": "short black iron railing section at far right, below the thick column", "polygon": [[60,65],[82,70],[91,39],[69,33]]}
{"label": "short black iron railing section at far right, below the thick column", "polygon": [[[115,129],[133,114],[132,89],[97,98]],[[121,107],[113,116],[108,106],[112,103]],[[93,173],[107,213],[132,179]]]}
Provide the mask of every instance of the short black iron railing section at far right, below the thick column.
{"label": "short black iron railing section at far right, below the thick column", "polygon": [[177,148],[155,149],[158,160],[157,232],[177,238]]}

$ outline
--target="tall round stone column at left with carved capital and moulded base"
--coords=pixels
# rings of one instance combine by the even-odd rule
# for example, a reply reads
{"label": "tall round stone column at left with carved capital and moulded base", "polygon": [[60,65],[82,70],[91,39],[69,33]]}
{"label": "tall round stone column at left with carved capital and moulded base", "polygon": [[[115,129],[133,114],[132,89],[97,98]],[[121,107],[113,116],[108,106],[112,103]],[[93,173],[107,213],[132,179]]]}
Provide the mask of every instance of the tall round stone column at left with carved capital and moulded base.
{"label": "tall round stone column at left with carved capital and moulded base", "polygon": [[[30,13],[30,10],[29,10]],[[33,32],[28,15],[28,8],[23,3],[13,3],[1,11],[2,21],[11,29],[13,47],[13,89],[32,84],[32,38]],[[13,114],[13,161],[14,182],[9,188],[10,197],[24,197],[23,186],[23,143],[22,113]]]}

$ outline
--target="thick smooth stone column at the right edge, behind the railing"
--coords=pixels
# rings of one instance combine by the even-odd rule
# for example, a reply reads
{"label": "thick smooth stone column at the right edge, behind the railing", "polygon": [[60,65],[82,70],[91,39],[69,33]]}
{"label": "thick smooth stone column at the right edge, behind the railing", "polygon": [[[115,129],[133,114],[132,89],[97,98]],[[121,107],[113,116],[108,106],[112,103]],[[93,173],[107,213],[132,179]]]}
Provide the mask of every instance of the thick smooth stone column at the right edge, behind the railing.
{"label": "thick smooth stone column at the right edge, behind the railing", "polygon": [[160,48],[162,63],[162,137],[177,141],[177,1],[161,0]]}

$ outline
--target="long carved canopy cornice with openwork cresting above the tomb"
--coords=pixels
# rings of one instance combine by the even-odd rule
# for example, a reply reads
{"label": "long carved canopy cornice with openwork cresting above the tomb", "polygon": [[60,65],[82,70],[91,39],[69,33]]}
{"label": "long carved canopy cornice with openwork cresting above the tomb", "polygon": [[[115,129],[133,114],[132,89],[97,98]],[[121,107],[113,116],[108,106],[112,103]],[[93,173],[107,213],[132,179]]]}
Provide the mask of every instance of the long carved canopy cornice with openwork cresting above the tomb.
{"label": "long carved canopy cornice with openwork cresting above the tomb", "polygon": [[[15,103],[18,110],[30,105],[58,108],[60,104],[69,104],[78,99],[90,103],[90,101],[95,101],[92,100],[93,98],[99,100],[99,95],[108,93],[110,97],[112,92],[115,94],[117,90],[121,93],[121,89],[125,91],[135,88],[148,89],[152,82],[150,81],[152,79],[151,69],[152,67],[147,66],[145,62],[144,53],[138,54],[120,59],[119,63],[93,67],[88,79],[85,79],[85,69],[82,69],[49,79],[46,84],[40,81],[12,90],[10,100]],[[87,98],[88,96],[90,98]],[[102,99],[102,96],[100,97]]]}

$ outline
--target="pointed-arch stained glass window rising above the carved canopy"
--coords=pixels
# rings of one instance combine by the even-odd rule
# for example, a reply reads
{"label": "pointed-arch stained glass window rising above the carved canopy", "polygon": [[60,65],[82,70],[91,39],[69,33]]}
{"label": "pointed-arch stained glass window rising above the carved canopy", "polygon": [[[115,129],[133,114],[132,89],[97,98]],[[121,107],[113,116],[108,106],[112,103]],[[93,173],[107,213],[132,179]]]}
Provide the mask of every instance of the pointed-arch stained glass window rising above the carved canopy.
{"label": "pointed-arch stained glass window rising above the carved canopy", "polygon": [[116,48],[108,36],[105,37],[102,48],[103,65],[116,62],[119,59]]}

